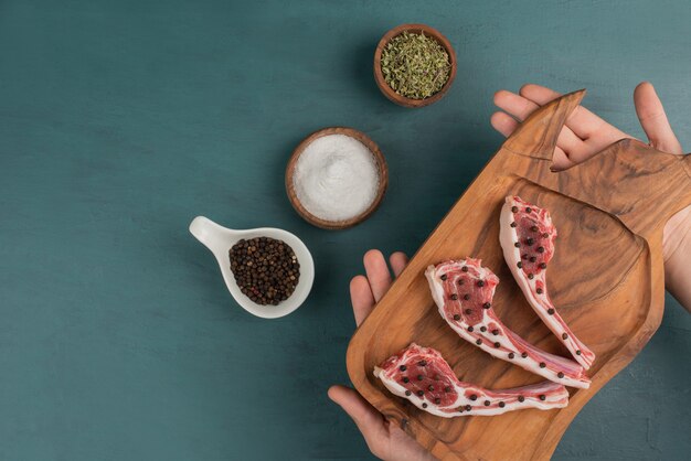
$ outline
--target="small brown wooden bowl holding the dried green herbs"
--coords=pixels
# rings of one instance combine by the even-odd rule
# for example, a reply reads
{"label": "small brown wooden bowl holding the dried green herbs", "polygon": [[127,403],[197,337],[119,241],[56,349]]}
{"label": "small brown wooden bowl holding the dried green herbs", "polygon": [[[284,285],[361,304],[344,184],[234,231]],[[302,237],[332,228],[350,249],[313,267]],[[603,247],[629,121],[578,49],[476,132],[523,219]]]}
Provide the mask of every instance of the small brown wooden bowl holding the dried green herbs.
{"label": "small brown wooden bowl holding the dried green herbs", "polygon": [[[384,81],[384,75],[382,74],[382,64],[381,64],[382,51],[384,50],[384,46],[386,46],[386,44],[391,41],[391,39],[393,39],[396,35],[401,35],[404,31],[407,31],[411,33],[424,32],[425,35],[432,36],[437,42],[439,42],[439,44],[444,46],[444,49],[448,53],[448,58],[451,63],[451,72],[448,76],[448,81],[446,81],[446,84],[442,87],[442,89],[439,89],[437,93],[435,93],[428,98],[425,98],[425,99],[406,98],[405,96],[401,96],[395,90],[393,90],[391,86],[389,86],[386,81]],[[374,81],[376,81],[376,86],[379,86],[379,89],[384,94],[384,96],[386,96],[389,99],[391,99],[393,103],[396,103],[400,106],[415,108],[415,107],[428,106],[430,104],[436,103],[437,100],[444,97],[446,92],[448,92],[448,88],[450,88],[451,83],[454,82],[455,77],[456,77],[456,53],[454,52],[454,47],[451,46],[449,41],[444,35],[442,35],[439,31],[437,31],[434,28],[430,28],[429,25],[401,24],[397,28],[394,28],[390,30],[389,32],[386,32],[386,34],[382,36],[382,40],[380,40],[379,44],[376,45],[376,51],[374,52]]]}

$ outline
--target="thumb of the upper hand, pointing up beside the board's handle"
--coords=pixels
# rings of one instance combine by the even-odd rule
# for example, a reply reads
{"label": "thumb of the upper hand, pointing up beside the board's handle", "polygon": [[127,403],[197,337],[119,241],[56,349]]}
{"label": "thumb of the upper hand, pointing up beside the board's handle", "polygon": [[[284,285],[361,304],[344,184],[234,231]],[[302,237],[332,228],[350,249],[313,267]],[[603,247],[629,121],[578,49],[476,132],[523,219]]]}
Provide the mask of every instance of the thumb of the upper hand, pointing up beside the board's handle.
{"label": "thumb of the upper hand, pointing up beside the board's handle", "polygon": [[650,146],[662,152],[682,153],[681,144],[669,125],[662,103],[650,82],[642,82],[636,87],[634,104]]}

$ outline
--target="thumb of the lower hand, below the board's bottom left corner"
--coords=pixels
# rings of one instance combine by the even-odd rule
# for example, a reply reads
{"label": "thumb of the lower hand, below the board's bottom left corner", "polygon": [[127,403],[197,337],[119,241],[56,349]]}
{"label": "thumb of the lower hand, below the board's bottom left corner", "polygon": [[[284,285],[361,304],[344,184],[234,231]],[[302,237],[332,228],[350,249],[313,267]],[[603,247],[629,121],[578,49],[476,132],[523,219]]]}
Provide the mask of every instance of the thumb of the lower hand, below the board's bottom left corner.
{"label": "thumb of the lower hand, below the board's bottom left corner", "polygon": [[352,418],[364,436],[365,441],[373,449],[385,437],[384,417],[371,406],[360,394],[350,387],[331,386],[329,398]]}

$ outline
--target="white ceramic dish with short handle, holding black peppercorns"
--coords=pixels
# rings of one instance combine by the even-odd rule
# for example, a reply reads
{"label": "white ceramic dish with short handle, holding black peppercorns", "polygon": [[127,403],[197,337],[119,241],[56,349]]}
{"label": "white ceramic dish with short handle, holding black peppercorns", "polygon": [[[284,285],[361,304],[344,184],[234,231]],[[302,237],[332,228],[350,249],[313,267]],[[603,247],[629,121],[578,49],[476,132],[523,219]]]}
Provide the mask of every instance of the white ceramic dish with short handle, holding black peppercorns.
{"label": "white ceramic dish with short handle, holding black peppercorns", "polygon": [[[190,223],[190,233],[206,248],[213,253],[221,267],[221,274],[227,286],[228,291],[235,298],[235,301],[247,312],[262,317],[264,319],[277,319],[279,317],[288,315],[305,302],[309,291],[312,288],[315,281],[315,261],[309,250],[295,235],[287,230],[277,229],[273,227],[258,227],[256,229],[234,230],[223,227],[213,221],[204,216],[196,216]],[[288,299],[280,302],[278,305],[262,305],[252,301],[242,291],[235,277],[231,270],[231,261],[228,259],[228,250],[238,240],[245,238],[255,237],[269,237],[278,240],[283,240],[293,248],[295,256],[300,264],[300,279],[295,291]]]}

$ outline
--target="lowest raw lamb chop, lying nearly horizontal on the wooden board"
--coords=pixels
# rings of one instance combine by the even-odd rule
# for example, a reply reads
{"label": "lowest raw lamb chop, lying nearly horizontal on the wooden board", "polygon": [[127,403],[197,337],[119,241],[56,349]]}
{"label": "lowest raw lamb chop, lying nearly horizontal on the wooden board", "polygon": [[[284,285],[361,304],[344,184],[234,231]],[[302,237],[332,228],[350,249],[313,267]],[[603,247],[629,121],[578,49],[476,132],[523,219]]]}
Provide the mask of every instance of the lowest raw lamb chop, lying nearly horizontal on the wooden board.
{"label": "lowest raw lamb chop, lying nearly horizontal on the wooden board", "polygon": [[523,408],[549,410],[568,404],[566,388],[556,383],[488,390],[460,382],[438,351],[415,343],[374,367],[374,376],[393,394],[444,418],[501,415]]}

